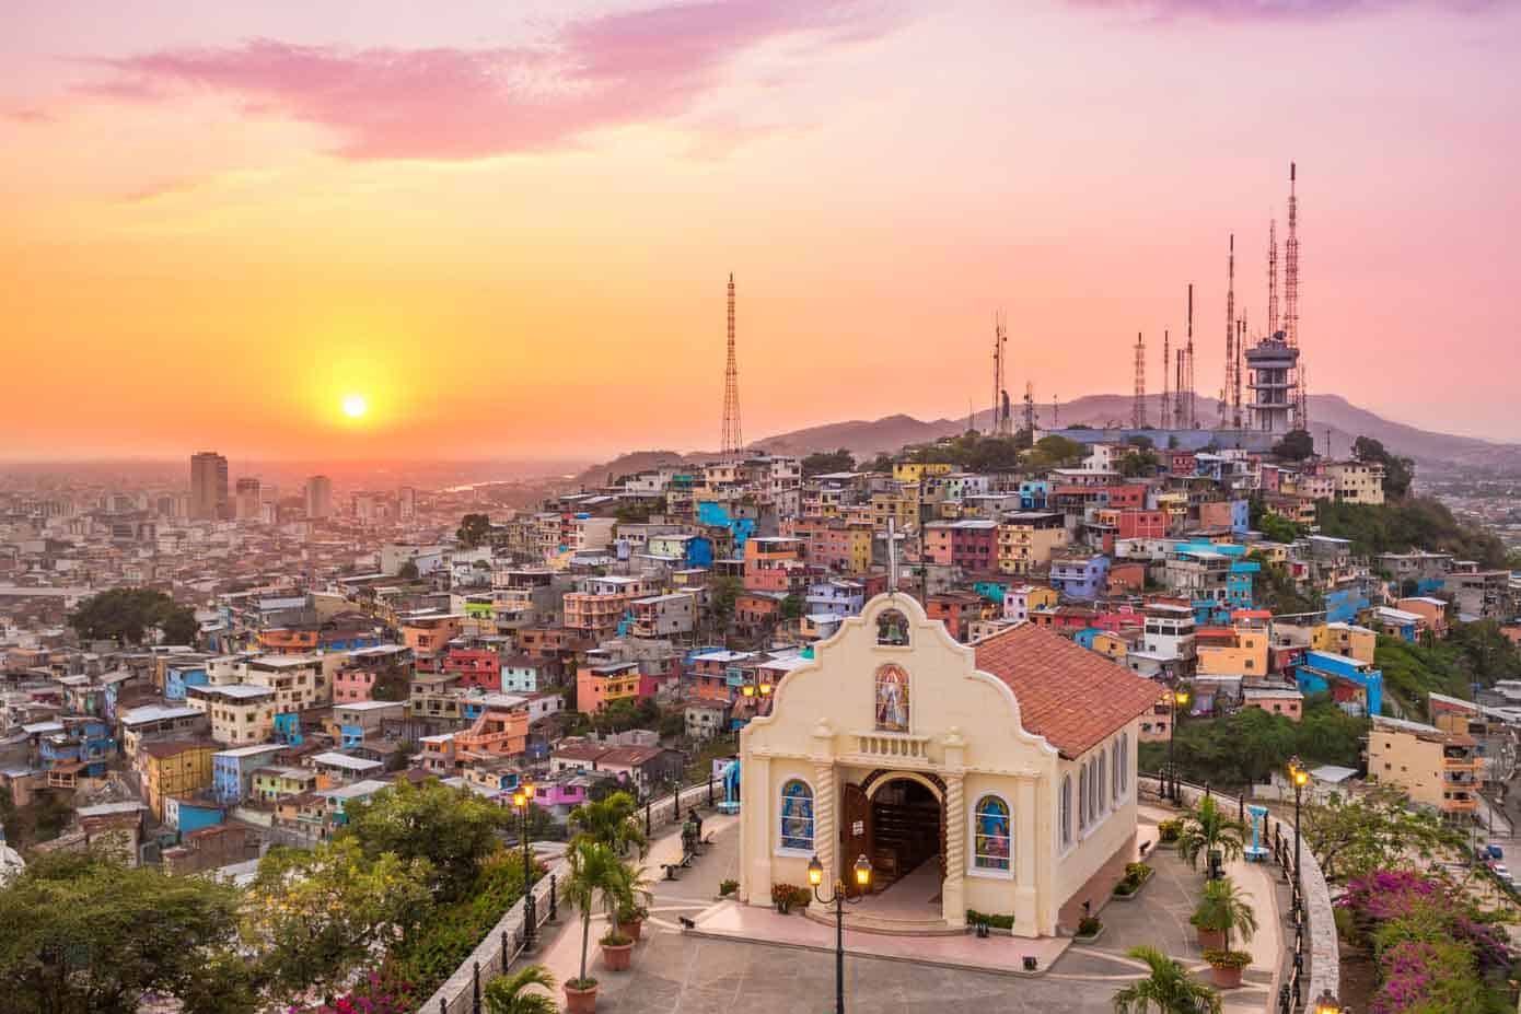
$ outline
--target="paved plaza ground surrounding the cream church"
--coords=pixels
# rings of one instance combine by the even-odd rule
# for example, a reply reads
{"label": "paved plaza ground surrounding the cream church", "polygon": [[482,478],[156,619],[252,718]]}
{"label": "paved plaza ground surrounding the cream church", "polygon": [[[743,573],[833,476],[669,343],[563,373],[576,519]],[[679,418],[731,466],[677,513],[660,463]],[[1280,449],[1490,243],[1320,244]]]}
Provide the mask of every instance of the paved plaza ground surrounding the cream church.
{"label": "paved plaza ground surrounding the cream church", "polygon": [[[1142,836],[1156,816],[1161,813],[1142,813]],[[791,1014],[832,1009],[832,927],[716,897],[718,883],[738,876],[736,825],[738,818],[707,816],[703,830],[715,844],[683,870],[680,879],[654,880],[651,918],[630,971],[611,973],[601,965],[596,938],[605,932],[605,921],[593,918],[589,971],[599,981],[598,1011]],[[646,857],[649,876],[659,877],[660,863],[678,854],[680,839],[674,833],[659,838]],[[1205,974],[1194,927],[1188,923],[1202,874],[1171,851],[1157,851],[1150,862],[1156,876],[1141,897],[1103,908],[1104,932],[1094,944],[847,932],[847,1009],[878,1014],[986,1003],[1015,1014],[1107,1012],[1113,1009],[1113,993],[1142,974],[1139,962],[1124,956],[1129,947],[1142,943],[1161,947]],[[1250,947],[1253,964],[1246,985],[1226,994],[1226,1009],[1256,1014],[1269,1009],[1276,988],[1273,976],[1282,953],[1282,921],[1269,870],[1241,867],[1230,873],[1253,894],[1261,930]],[[697,933],[683,930],[683,917],[697,923]],[[722,932],[735,926],[739,932]],[[561,912],[558,926],[546,929],[537,959],[549,967],[557,982],[573,978],[580,962],[580,923],[573,914]],[[710,935],[710,930],[718,932]],[[1040,955],[1042,973],[1018,974],[1019,958],[1031,952]],[[999,970],[978,970],[978,964]]]}

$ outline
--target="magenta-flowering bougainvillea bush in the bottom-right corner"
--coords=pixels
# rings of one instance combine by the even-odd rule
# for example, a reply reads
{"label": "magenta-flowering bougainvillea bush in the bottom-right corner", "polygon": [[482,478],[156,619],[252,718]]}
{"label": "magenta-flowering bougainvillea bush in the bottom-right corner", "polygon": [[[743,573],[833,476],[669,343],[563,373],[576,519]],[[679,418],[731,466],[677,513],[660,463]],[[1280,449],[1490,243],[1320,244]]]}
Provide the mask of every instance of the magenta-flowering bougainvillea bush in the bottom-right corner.
{"label": "magenta-flowering bougainvillea bush in the bottom-right corner", "polygon": [[1351,880],[1337,905],[1378,962],[1369,1014],[1513,1009],[1504,981],[1515,953],[1504,930],[1450,885],[1415,871],[1380,871]]}

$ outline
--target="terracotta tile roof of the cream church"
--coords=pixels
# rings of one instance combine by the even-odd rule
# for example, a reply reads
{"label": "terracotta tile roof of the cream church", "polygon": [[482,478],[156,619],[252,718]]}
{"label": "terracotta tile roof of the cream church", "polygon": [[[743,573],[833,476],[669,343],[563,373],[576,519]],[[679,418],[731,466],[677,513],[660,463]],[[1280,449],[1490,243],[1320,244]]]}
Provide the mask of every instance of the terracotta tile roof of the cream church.
{"label": "terracotta tile roof of the cream church", "polygon": [[976,667],[1010,686],[1024,725],[1074,759],[1150,711],[1161,689],[1033,623],[976,645]]}

